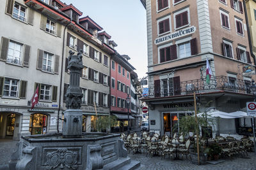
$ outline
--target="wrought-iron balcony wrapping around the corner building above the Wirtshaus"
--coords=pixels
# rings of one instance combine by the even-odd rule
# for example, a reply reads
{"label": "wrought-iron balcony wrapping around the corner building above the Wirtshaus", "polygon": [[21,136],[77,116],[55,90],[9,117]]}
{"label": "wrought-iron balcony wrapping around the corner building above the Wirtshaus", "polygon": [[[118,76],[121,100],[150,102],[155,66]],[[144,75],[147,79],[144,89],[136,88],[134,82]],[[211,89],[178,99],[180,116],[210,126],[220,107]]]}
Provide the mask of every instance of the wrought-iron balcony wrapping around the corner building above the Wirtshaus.
{"label": "wrought-iron balcony wrapping around the corner building above the Wirtshaus", "polygon": [[250,81],[230,80],[227,76],[217,76],[211,78],[210,83],[204,79],[182,81],[179,85],[160,85],[159,87],[148,87],[147,97],[170,97],[188,95],[193,92],[209,93],[224,90],[225,92],[236,92],[241,94],[251,94]]}

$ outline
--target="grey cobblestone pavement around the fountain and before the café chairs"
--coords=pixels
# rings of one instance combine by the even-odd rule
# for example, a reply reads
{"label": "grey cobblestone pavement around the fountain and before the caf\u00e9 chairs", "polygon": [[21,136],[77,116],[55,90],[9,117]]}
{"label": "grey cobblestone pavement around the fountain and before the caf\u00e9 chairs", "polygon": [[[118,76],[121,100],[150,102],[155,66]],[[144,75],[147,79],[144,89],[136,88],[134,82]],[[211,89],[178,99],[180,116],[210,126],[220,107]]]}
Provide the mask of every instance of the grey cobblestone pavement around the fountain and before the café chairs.
{"label": "grey cobblestone pavement around the fountain and before the caf\u00e9 chairs", "polygon": [[[0,139],[0,167],[3,164],[7,164],[11,158],[12,153],[16,149],[16,144],[18,141],[13,141],[11,139]],[[151,157],[146,156],[145,153],[129,153],[129,157],[133,160],[138,160],[143,166],[140,167],[141,170],[165,170],[165,169],[255,169],[256,170],[256,154],[249,153],[250,159],[236,158],[236,159],[225,159],[224,162],[219,164],[206,164],[198,166],[192,164],[189,159],[184,157],[183,160],[173,160],[172,158],[166,157],[161,159],[161,157]]]}

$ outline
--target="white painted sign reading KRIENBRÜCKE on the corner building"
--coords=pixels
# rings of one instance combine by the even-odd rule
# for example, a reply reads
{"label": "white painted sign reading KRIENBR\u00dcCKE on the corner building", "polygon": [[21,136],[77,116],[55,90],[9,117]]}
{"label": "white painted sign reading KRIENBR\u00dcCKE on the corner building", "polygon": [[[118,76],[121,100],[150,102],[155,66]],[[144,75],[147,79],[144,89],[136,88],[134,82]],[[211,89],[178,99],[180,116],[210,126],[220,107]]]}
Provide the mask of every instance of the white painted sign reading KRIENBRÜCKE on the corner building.
{"label": "white painted sign reading KRIENBR\u00dcCKE on the corner building", "polygon": [[166,41],[170,41],[175,38],[180,38],[182,36],[186,36],[189,34],[193,34],[196,31],[195,26],[188,27],[186,29],[180,29],[180,31],[172,32],[171,34],[168,34],[166,36],[163,36],[161,38],[156,38],[155,44],[159,45],[161,43],[164,43]]}

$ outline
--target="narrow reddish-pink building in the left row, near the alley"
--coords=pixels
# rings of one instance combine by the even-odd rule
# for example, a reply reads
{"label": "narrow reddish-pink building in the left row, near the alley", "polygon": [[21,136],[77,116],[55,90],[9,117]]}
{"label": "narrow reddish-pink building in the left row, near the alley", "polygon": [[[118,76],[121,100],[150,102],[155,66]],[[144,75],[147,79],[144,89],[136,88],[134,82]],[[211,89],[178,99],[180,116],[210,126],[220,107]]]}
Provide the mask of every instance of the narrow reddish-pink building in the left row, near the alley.
{"label": "narrow reddish-pink building in the left row, near the alley", "polygon": [[[118,118],[118,125],[113,131],[125,131],[128,125],[128,108],[126,98],[129,95],[131,99],[131,77],[130,73],[135,68],[129,64],[128,55],[120,55],[115,53],[111,60],[111,114]],[[129,107],[131,113],[131,107]],[[129,115],[129,119],[134,117]],[[131,121],[130,121],[131,124]]]}

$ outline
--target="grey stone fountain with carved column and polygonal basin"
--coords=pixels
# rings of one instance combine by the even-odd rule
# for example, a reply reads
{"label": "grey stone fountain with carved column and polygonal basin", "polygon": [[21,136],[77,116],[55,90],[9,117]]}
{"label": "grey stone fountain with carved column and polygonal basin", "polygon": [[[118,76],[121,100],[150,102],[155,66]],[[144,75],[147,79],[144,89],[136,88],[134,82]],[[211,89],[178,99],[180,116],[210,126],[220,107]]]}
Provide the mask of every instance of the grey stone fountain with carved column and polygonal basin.
{"label": "grey stone fountain with carved column and polygonal basin", "polygon": [[70,87],[62,133],[22,136],[7,169],[134,169],[140,162],[127,157],[119,134],[82,133],[80,73],[82,52],[70,51]]}

